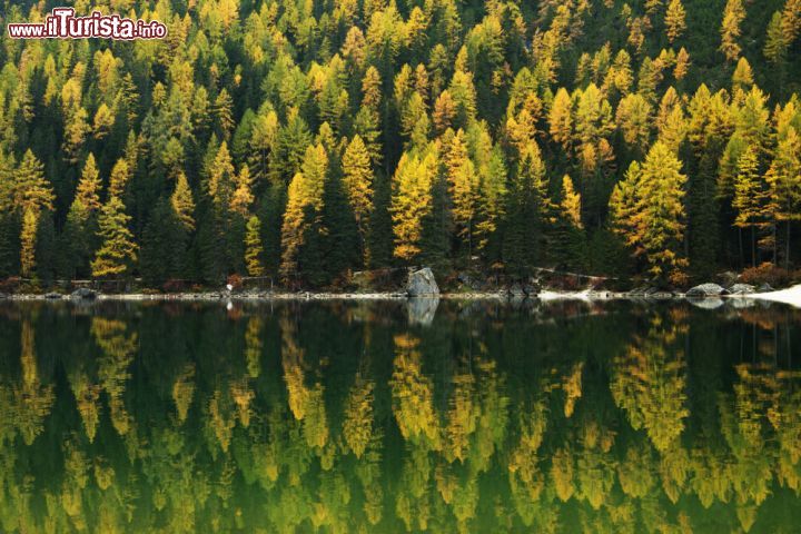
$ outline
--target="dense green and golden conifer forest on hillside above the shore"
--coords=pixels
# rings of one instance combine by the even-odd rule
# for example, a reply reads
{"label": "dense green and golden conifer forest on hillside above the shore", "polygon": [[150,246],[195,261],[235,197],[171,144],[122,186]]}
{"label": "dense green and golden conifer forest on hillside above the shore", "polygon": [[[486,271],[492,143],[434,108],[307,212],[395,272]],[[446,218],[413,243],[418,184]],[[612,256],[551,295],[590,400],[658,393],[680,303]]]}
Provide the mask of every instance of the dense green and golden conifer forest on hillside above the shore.
{"label": "dense green and golden conifer forest on hillside above the shore", "polygon": [[0,279],[801,276],[801,0],[75,9],[169,33],[3,33]]}

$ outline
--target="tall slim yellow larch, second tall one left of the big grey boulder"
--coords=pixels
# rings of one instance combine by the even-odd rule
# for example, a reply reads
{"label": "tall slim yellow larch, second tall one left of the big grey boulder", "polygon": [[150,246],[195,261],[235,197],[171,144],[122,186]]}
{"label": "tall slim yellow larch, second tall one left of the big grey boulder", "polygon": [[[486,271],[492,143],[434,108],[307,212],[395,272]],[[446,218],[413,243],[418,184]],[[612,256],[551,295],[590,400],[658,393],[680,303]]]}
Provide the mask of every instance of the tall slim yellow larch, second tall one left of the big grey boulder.
{"label": "tall slim yellow larch, second tall one left of the big grey boulder", "polygon": [[353,138],[345,150],[343,174],[343,185],[358,227],[364,264],[369,265],[370,255],[366,237],[373,211],[374,177],[367,147],[358,135]]}

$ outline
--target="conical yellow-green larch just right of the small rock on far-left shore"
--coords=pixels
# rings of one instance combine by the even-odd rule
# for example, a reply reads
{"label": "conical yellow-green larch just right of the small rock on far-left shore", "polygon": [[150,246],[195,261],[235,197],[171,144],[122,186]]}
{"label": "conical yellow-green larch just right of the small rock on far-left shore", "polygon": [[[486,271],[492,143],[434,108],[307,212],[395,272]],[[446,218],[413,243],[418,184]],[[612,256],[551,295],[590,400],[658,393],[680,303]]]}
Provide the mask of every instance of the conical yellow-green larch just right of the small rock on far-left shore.
{"label": "conical yellow-green larch just right of the small rock on far-left shore", "polygon": [[98,234],[102,245],[91,263],[93,277],[113,278],[130,274],[137,259],[137,246],[128,229],[131,217],[126,215],[125,209],[119,197],[112,196],[100,210]]}

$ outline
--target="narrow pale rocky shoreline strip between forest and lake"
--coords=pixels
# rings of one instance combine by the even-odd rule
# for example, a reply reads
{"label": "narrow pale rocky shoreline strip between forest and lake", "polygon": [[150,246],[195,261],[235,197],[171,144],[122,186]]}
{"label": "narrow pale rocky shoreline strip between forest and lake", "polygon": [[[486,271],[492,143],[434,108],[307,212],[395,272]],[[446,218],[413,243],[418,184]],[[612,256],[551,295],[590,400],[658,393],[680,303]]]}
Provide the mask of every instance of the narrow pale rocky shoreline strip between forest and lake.
{"label": "narrow pale rocky shoreline strip between forest and lake", "polygon": [[691,301],[714,301],[725,300],[762,300],[787,304],[801,308],[801,285],[788,289],[771,293],[750,295],[721,295],[715,297],[692,298],[684,294],[655,294],[640,295],[621,291],[557,291],[543,290],[537,295],[510,295],[507,291],[476,291],[476,293],[442,293],[439,295],[411,297],[405,293],[228,293],[228,291],[204,291],[204,293],[176,293],[176,294],[98,294],[96,298],[76,298],[67,294],[9,294],[0,298],[9,301],[275,301],[275,300],[374,300],[374,301],[400,301],[414,299],[441,299],[441,300],[496,300],[496,301],[520,301],[520,300],[691,300]]}

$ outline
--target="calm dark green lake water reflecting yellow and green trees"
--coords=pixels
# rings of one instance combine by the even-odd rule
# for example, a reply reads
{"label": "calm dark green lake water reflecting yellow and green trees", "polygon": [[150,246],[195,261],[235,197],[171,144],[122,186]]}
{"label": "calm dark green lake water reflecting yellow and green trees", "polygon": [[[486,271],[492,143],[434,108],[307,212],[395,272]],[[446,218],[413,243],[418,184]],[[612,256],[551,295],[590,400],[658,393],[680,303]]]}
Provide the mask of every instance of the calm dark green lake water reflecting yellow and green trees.
{"label": "calm dark green lake water reflecting yellow and green trees", "polygon": [[801,310],[4,304],[0,531],[801,528]]}

